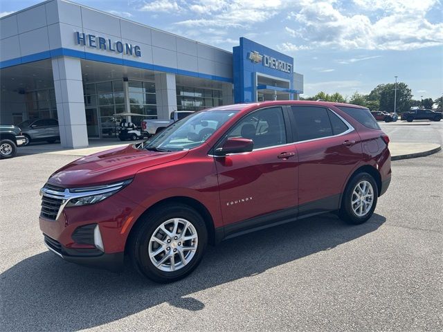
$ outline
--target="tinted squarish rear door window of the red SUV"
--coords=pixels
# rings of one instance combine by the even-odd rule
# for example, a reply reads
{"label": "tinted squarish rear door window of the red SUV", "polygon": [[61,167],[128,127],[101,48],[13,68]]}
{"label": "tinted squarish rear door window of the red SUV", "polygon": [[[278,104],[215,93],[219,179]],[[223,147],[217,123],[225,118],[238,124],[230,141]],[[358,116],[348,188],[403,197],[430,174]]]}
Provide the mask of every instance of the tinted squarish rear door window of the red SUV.
{"label": "tinted squarish rear door window of the red SUV", "polygon": [[298,137],[299,141],[334,135],[327,109],[324,107],[291,106],[291,113],[296,122],[293,128],[294,136]]}

